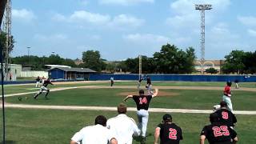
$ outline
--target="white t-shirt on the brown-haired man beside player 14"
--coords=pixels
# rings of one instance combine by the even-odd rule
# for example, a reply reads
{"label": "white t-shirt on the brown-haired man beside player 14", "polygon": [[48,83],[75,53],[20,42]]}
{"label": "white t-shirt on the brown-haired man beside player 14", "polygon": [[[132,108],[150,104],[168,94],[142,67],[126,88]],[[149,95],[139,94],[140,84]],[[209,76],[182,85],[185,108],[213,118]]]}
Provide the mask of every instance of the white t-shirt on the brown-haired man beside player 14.
{"label": "white t-shirt on the brown-haired man beside player 14", "polygon": [[106,122],[106,127],[111,130],[118,143],[121,144],[131,144],[133,142],[132,136],[140,134],[134,119],[126,116],[126,114],[118,114],[118,116],[110,118]]}

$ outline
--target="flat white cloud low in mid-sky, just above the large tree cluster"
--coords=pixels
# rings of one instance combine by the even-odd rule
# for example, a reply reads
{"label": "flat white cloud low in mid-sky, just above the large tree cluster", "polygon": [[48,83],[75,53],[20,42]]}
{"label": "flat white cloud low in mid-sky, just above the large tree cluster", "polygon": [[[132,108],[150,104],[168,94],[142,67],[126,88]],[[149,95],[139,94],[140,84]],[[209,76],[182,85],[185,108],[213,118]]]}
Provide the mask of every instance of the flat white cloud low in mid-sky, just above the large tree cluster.
{"label": "flat white cloud low in mid-sky, just above the large tree cluster", "polygon": [[167,38],[162,35],[155,35],[155,34],[128,34],[124,35],[123,38],[129,42],[134,43],[162,43],[165,44],[170,42],[170,38]]}

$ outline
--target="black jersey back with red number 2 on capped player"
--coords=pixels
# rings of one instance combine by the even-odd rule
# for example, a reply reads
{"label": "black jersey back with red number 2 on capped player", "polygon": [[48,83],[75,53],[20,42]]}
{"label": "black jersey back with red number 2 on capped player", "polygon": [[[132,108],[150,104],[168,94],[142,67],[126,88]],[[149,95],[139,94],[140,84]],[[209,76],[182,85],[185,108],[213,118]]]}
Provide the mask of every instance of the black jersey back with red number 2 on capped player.
{"label": "black jersey back with red number 2 on capped player", "polygon": [[182,129],[175,123],[161,123],[160,144],[178,144],[182,140]]}

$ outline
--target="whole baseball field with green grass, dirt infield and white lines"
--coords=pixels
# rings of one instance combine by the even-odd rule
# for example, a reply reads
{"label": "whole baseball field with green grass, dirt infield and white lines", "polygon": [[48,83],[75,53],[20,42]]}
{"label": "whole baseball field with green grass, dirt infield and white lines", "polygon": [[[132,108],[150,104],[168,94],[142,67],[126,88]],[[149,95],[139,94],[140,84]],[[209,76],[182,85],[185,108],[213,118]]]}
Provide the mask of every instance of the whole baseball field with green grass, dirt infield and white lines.
{"label": "whole baseball field with green grass, dirt infield and white lines", "polygon": [[[238,118],[234,129],[239,143],[256,143],[256,83],[240,85],[240,89],[233,86],[231,90]],[[225,82],[153,82],[159,95],[150,102],[146,143],[154,142],[154,128],[166,112],[182,128],[181,143],[198,143],[202,127],[210,123],[213,106],[221,101],[224,86]],[[44,94],[34,100],[38,91],[34,84],[5,86],[7,143],[69,143],[76,131],[93,125],[97,115],[114,117],[118,103],[127,94],[138,93],[137,82],[132,81],[115,82],[113,87],[110,82],[54,82],[49,88],[49,100]],[[137,121],[135,103],[129,99],[126,104],[127,115]],[[134,143],[139,139],[134,138]]]}

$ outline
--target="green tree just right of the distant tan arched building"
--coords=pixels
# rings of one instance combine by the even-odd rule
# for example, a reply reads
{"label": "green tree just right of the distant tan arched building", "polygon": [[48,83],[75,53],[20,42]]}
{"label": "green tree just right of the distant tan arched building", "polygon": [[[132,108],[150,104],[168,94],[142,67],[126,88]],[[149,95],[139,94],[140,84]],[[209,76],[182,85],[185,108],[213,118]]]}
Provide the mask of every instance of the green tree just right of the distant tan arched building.
{"label": "green tree just right of the distant tan arched building", "polygon": [[245,65],[242,60],[245,56],[246,53],[243,50],[232,50],[230,54],[225,56],[222,72],[224,74],[244,74]]}

